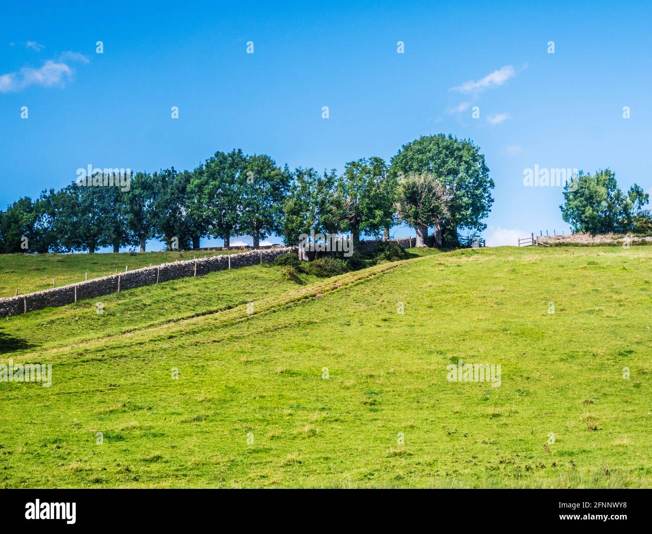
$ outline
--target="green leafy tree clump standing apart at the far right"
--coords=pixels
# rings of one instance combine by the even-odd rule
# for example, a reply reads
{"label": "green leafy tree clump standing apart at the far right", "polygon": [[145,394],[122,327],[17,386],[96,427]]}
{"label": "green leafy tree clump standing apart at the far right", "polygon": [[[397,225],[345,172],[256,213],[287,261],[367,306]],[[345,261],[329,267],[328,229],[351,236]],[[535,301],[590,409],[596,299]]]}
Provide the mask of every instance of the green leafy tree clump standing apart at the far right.
{"label": "green leafy tree clump standing apart at the far right", "polygon": [[564,187],[564,203],[559,206],[563,220],[572,231],[624,233],[636,230],[637,219],[644,215],[643,207],[649,195],[634,184],[627,194],[618,187],[614,171],[583,171]]}

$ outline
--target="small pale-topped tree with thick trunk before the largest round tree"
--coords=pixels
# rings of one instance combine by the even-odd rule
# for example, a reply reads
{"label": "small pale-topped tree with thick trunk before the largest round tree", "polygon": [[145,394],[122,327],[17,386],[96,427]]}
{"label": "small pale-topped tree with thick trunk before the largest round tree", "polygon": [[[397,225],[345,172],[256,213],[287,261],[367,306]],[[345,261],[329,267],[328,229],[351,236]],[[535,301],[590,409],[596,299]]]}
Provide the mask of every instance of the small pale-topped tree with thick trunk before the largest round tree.
{"label": "small pale-topped tree with thick trunk before the largest round tree", "polygon": [[426,246],[428,227],[450,216],[451,194],[432,174],[408,174],[398,181],[396,213],[417,232],[416,246]]}

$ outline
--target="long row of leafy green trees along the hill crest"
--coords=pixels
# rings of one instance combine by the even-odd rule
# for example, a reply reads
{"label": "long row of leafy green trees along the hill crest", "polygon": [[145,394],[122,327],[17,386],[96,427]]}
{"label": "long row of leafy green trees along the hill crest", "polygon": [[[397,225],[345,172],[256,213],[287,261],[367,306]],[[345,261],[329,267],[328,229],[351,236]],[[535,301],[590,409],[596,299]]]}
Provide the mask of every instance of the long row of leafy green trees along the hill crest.
{"label": "long row of leafy green trees along the hill crest", "polygon": [[[96,181],[101,181],[96,180]],[[68,252],[140,245],[162,239],[173,248],[198,248],[201,237],[271,234],[296,244],[310,230],[385,235],[405,222],[424,245],[428,227],[437,243],[456,243],[486,225],[493,181],[470,140],[439,134],[404,145],[388,165],[382,158],[348,162],[338,174],[280,167],[267,155],[217,152],[193,171],[132,173],[128,190],[72,183],[21,198],[0,211],[4,252]],[[29,248],[25,247],[29,243]]]}

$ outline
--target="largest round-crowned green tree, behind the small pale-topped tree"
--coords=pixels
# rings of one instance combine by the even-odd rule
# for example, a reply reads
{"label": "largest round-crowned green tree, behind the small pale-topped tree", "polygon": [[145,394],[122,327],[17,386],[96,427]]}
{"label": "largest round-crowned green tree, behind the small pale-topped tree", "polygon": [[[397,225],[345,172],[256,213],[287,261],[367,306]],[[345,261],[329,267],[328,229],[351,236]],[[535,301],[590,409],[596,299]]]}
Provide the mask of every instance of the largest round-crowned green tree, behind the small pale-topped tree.
{"label": "largest round-crowned green tree, behind the small pale-topped tree", "polygon": [[[403,147],[391,160],[391,174],[397,180],[410,174],[432,175],[451,196],[449,213],[441,221],[441,232],[447,241],[456,243],[460,228],[482,231],[482,222],[490,212],[494,199],[494,181],[484,155],[471,140],[438,134],[423,136]],[[436,230],[436,236],[440,230]],[[437,239],[439,241],[439,239]],[[449,244],[454,244],[449,243]]]}

